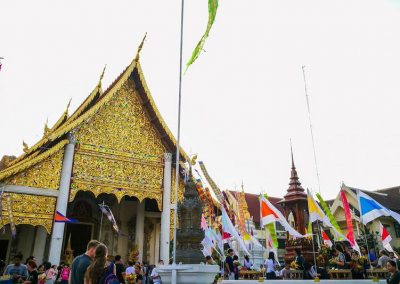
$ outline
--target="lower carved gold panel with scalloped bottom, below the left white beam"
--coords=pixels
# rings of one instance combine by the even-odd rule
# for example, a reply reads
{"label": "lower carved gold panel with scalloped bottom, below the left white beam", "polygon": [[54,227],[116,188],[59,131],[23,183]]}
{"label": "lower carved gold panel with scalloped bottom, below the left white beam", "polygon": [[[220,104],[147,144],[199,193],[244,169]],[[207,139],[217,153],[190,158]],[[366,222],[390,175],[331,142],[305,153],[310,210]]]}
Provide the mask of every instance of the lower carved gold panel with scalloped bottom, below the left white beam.
{"label": "lower carved gold panel with scalloped bottom, below the left white beam", "polygon": [[[15,225],[26,224],[32,226],[43,226],[47,233],[51,233],[53,225],[56,198],[39,195],[7,193],[11,195],[13,204],[13,216]],[[6,200],[2,199],[3,212],[0,228],[9,224],[8,212],[6,211]]]}

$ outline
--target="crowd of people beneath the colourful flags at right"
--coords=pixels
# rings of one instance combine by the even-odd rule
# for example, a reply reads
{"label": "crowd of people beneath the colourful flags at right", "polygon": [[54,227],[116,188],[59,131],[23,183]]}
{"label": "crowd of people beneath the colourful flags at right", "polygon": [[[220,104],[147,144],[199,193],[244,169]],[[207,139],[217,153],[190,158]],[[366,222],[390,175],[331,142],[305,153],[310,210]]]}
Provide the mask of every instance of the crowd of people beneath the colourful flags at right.
{"label": "crowd of people beneath the colourful flags at right", "polygon": [[[294,258],[281,265],[274,252],[269,252],[268,258],[260,267],[254,267],[247,255],[240,261],[233,249],[227,250],[225,261],[222,263],[224,277],[229,280],[239,279],[241,271],[254,270],[263,275],[266,279],[290,279],[290,270],[300,271],[303,279],[329,279],[330,270],[347,269],[351,272],[352,279],[367,279],[367,270],[382,269],[387,271],[387,283],[400,283],[399,259],[393,252],[385,250],[379,251],[376,256],[373,252],[368,252],[367,247],[361,247],[360,252],[346,246],[345,243],[338,242],[330,249],[324,247],[320,250],[315,261],[307,262],[300,249],[295,250]],[[206,257],[206,264],[215,264],[210,257]],[[245,273],[243,273],[245,275]]]}

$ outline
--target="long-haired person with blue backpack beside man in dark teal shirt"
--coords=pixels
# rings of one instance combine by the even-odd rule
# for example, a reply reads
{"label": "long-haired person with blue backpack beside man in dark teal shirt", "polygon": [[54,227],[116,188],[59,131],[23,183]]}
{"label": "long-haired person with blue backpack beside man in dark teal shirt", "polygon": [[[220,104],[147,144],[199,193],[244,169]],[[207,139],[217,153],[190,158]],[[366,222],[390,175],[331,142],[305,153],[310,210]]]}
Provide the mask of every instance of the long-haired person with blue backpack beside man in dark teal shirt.
{"label": "long-haired person with blue backpack beside man in dark teal shirt", "polygon": [[94,260],[86,270],[85,284],[119,284],[118,277],[115,275],[115,264],[107,261],[107,257],[107,247],[99,244],[94,253]]}

